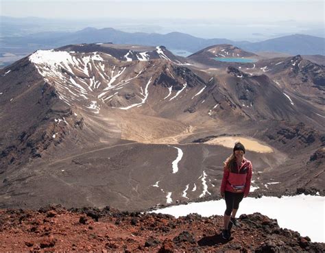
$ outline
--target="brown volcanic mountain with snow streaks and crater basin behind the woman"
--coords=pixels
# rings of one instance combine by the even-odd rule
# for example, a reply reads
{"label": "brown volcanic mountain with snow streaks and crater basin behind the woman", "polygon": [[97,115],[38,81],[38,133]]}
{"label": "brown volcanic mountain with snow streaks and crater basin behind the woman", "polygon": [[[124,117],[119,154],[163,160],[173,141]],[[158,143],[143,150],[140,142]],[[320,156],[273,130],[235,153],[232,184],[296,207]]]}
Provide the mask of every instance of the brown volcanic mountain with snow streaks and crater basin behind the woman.
{"label": "brown volcanic mountain with snow streaks and crater basin behind the woman", "polygon": [[[202,54],[211,50],[256,62],[215,63]],[[281,67],[278,58],[230,45],[206,51],[196,54],[199,61],[163,46],[68,45],[1,70],[3,206],[139,210],[213,197],[237,138],[247,143],[261,187],[254,194],[298,186],[322,194],[324,158],[310,159],[322,154],[324,112],[310,99],[315,93],[300,95],[276,79],[292,78],[285,69],[293,58]],[[300,66],[297,76],[309,76],[306,84],[322,78],[322,66]],[[280,184],[264,191],[269,177]]]}

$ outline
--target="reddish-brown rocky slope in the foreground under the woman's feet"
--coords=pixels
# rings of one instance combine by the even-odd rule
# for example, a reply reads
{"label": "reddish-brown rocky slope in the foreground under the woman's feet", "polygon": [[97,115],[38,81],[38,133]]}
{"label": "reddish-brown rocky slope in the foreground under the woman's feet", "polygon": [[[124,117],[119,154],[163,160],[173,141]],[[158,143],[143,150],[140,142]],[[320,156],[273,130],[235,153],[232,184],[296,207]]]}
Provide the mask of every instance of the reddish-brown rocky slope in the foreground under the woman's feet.
{"label": "reddish-brown rocky slope in the foreground under the woman's feet", "polygon": [[155,213],[47,206],[0,210],[1,252],[324,252],[324,243],[280,228],[259,213],[241,215],[230,241],[221,238],[221,216],[176,219]]}

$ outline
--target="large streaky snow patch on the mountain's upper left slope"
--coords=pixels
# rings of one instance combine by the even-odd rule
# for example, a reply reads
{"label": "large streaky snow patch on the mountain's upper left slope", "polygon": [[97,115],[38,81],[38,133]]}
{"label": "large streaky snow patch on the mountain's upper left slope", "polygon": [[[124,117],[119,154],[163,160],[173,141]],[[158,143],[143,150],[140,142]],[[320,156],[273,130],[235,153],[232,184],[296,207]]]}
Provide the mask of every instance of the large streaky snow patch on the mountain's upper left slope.
{"label": "large streaky snow patch on the mountain's upper left slope", "polygon": [[[110,80],[103,71],[104,59],[99,53],[76,57],[67,51],[38,50],[29,56],[29,61],[35,64],[38,73],[46,82],[56,87],[60,99],[69,105],[74,101],[81,101],[85,108],[99,113],[100,107],[97,106],[97,101],[90,101],[89,91],[99,88],[104,80]],[[95,80],[95,76],[90,75],[93,68],[101,73],[101,80]],[[69,75],[64,75],[64,72]]]}

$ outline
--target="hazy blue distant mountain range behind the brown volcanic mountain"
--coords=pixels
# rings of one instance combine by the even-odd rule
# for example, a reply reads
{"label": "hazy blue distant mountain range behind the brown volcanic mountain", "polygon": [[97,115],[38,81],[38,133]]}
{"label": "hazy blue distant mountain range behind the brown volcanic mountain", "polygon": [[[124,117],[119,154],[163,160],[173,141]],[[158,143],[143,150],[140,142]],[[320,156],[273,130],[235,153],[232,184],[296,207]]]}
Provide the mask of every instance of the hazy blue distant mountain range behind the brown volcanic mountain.
{"label": "hazy blue distant mountain range behind the brown volcanic mountain", "polygon": [[[169,49],[186,50],[196,52],[202,48],[217,45],[231,44],[241,47],[247,51],[278,51],[293,55],[325,55],[325,38],[305,35],[283,36],[265,40],[258,43],[236,42],[226,38],[204,39],[171,32],[169,34],[147,34],[143,32],[121,32],[113,28],[96,29],[88,27],[77,32],[42,32],[20,37],[3,37],[3,48],[0,53],[31,53],[37,49],[51,49],[77,43],[116,43],[116,44],[139,44],[139,45],[165,45]],[[313,45],[310,47],[309,45]],[[8,47],[6,47],[8,45]],[[10,45],[15,45],[19,49],[10,49]],[[26,46],[27,45],[27,46]]]}

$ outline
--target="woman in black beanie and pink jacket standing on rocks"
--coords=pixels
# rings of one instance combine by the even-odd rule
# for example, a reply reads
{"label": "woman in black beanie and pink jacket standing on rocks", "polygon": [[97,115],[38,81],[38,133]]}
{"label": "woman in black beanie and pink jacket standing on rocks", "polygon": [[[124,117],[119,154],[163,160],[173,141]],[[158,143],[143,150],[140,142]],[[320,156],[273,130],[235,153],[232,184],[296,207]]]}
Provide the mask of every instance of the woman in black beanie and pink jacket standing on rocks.
{"label": "woman in black beanie and pink jacket standing on rocks", "polygon": [[224,213],[224,230],[221,235],[224,239],[230,239],[229,223],[239,226],[235,216],[239,203],[243,197],[250,193],[250,181],[252,179],[252,162],[244,158],[245,147],[241,143],[235,143],[233,152],[224,162],[224,178],[222,178],[220,194],[226,200]]}

